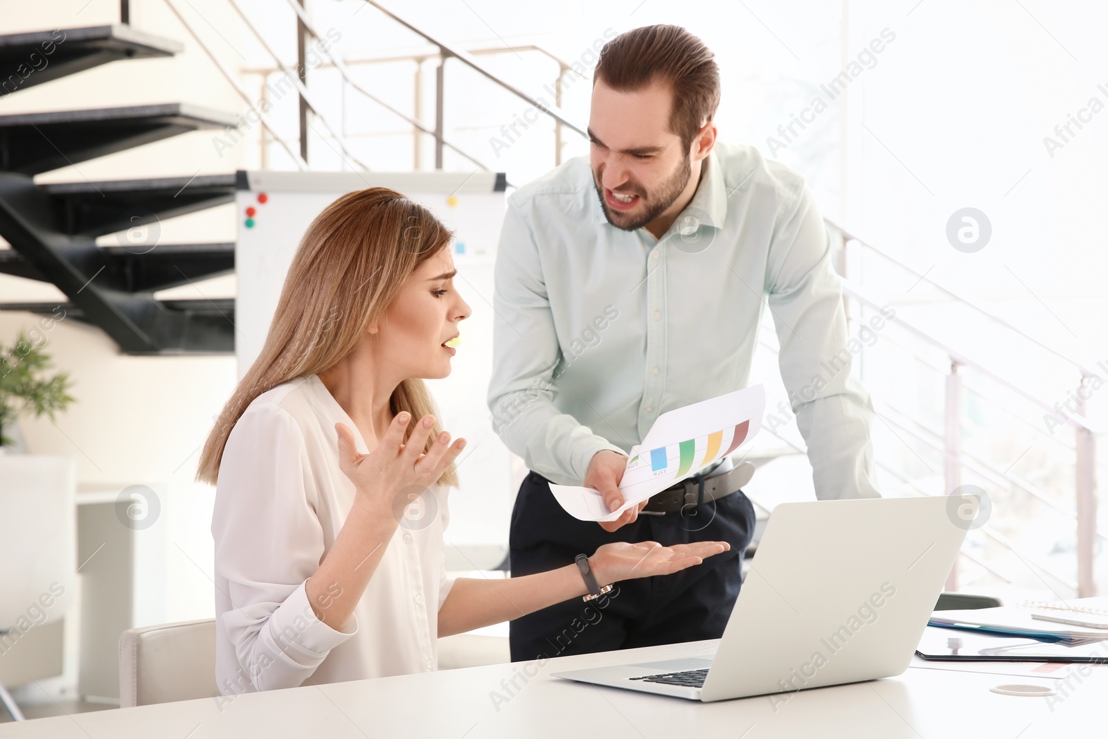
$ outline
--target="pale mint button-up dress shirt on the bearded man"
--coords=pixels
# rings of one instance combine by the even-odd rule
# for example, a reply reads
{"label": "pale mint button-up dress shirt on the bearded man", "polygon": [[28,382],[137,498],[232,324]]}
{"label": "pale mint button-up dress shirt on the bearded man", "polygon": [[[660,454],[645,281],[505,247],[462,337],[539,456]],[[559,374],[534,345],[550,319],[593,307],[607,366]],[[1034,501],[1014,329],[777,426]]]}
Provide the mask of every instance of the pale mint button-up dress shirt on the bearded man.
{"label": "pale mint button-up dress shirt on the bearded man", "polygon": [[655,237],[604,216],[588,157],[507,198],[495,267],[493,425],[531,470],[579,485],[659,414],[747,387],[768,305],[820,499],[872,497],[872,408],[830,239],[803,178],[717,143]]}

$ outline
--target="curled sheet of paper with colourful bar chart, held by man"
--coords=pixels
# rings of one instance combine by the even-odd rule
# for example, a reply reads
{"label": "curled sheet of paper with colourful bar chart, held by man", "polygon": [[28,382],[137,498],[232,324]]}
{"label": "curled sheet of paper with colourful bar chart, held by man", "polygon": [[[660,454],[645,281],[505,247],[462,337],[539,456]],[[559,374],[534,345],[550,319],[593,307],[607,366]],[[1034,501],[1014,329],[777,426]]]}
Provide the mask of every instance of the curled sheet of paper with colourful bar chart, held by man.
{"label": "curled sheet of paper with colourful bar chart, held by man", "polygon": [[581,521],[615,521],[674,483],[695,475],[755,438],[761,430],[766,392],[757,384],[678,408],[658,417],[643,443],[633,447],[619,492],[624,504],[608,511],[591,487],[551,484],[566,513]]}

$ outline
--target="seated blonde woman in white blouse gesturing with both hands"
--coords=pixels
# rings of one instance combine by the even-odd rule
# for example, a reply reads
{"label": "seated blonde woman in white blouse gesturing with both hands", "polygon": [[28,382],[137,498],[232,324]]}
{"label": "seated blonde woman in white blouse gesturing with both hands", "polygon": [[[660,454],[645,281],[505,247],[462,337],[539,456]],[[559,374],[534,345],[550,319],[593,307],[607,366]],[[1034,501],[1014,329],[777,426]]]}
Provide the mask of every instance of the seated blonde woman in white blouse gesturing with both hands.
{"label": "seated blonde woman in white blouse gesturing with both hands", "polygon": [[[453,462],[420,378],[450,373],[470,307],[450,232],[375,187],[329,205],[293,259],[266,343],[204,447],[216,485],[216,673],[224,694],[433,670],[435,639],[589,589],[574,563],[448,579]],[[427,515],[411,523],[404,511]],[[601,585],[660,575],[722,542],[606,544]],[[536,655],[537,656],[537,655]]]}

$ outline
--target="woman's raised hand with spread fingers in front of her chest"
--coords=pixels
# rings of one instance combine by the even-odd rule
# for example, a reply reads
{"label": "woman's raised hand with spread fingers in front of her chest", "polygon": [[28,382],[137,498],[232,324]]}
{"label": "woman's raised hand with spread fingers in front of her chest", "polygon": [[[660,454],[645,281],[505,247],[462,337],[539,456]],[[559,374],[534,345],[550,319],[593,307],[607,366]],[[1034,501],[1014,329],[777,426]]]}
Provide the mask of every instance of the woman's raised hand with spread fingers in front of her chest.
{"label": "woman's raised hand with spread fingers in front of her chest", "polygon": [[465,448],[464,439],[451,444],[450,434],[442,431],[424,454],[434,417],[424,415],[406,444],[404,429],[409,418],[407,411],[397,413],[380,443],[369,454],[358,452],[350,429],[342,423],[335,424],[339,434],[339,469],[355,484],[356,503],[361,504],[367,513],[388,516],[396,523],[399,523],[399,517],[394,506],[400,496],[402,510],[416,495],[435,484]]}

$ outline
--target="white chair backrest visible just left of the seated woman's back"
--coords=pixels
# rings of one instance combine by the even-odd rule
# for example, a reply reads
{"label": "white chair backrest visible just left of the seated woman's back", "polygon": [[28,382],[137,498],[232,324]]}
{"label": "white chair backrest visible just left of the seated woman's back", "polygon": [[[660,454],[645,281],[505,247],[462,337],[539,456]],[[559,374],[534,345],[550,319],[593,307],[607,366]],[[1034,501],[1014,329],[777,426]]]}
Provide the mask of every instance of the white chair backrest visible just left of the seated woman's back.
{"label": "white chair backrest visible just left of the seated woman's back", "polygon": [[215,619],[129,628],[120,636],[120,706],[218,695]]}

